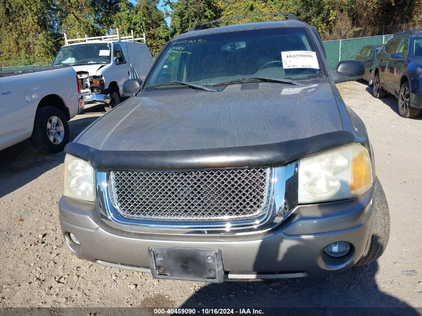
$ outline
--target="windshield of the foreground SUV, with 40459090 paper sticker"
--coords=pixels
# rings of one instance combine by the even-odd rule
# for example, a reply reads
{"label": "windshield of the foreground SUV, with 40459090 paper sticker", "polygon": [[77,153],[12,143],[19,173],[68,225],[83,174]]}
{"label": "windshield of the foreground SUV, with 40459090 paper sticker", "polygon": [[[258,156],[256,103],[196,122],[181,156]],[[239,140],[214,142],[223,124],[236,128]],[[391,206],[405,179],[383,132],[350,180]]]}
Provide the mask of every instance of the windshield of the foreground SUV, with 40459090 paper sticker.
{"label": "windshield of the foreground SUV, with 40459090 paper sticker", "polygon": [[165,88],[176,81],[217,85],[247,78],[298,81],[320,77],[320,68],[302,27],[221,32],[171,41],[145,87]]}

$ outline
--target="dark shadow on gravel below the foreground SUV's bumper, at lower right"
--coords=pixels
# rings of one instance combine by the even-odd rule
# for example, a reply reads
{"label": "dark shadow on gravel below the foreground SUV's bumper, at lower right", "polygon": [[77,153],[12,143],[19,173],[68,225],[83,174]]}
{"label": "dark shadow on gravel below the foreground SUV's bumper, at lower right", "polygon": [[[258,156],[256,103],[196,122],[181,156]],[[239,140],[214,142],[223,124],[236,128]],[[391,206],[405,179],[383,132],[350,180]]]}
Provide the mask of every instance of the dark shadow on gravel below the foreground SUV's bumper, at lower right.
{"label": "dark shadow on gravel below the foreground SUV's bumper, at lower right", "polygon": [[210,284],[180,308],[262,308],[264,315],[422,315],[383,293],[377,271],[375,262],[328,276]]}

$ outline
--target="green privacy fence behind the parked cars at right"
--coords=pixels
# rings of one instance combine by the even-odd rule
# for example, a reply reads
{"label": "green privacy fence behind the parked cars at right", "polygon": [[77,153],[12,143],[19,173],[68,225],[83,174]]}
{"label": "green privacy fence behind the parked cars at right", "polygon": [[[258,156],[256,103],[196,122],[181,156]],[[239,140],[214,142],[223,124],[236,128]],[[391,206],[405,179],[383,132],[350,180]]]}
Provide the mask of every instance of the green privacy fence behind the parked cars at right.
{"label": "green privacy fence behind the parked cars at right", "polygon": [[336,69],[340,60],[355,59],[365,45],[384,44],[392,36],[393,34],[325,41],[323,43],[328,65],[331,70]]}

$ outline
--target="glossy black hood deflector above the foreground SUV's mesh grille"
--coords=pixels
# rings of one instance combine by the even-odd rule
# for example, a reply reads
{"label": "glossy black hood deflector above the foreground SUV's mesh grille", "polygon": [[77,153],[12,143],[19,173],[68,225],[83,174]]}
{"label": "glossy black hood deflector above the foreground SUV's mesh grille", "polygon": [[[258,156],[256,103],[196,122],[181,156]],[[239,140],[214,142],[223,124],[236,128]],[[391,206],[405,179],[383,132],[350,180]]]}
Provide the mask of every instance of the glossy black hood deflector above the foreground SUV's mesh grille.
{"label": "glossy black hood deflector above the foreground SUV's mesh grille", "polygon": [[169,151],[98,150],[69,143],[67,154],[88,161],[96,170],[164,171],[280,166],[321,151],[355,142],[348,131],[335,131],[280,143]]}

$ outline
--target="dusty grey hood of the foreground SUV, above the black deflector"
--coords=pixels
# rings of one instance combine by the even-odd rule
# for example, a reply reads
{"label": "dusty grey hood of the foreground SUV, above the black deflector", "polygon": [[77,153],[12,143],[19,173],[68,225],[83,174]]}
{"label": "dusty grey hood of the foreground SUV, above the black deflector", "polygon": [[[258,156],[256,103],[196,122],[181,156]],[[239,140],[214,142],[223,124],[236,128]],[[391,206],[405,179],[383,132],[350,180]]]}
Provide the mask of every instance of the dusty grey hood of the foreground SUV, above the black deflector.
{"label": "dusty grey hood of the foreground SUV, above the black deflector", "polygon": [[[255,87],[255,88],[254,88]],[[74,141],[99,150],[156,151],[278,143],[341,131],[329,83],[229,85],[131,97]]]}

